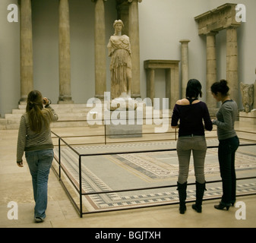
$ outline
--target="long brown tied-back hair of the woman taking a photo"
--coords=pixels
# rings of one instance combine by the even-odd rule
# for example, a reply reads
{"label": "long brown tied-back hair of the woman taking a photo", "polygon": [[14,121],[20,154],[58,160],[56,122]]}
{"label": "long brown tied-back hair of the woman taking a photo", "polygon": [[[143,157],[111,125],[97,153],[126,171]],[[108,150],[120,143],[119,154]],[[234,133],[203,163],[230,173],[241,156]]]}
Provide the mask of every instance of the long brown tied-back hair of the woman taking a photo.
{"label": "long brown tied-back hair of the woman taking a photo", "polygon": [[43,96],[38,90],[31,91],[27,96],[26,112],[30,129],[39,133],[42,130],[43,123],[49,127],[49,122],[43,112]]}

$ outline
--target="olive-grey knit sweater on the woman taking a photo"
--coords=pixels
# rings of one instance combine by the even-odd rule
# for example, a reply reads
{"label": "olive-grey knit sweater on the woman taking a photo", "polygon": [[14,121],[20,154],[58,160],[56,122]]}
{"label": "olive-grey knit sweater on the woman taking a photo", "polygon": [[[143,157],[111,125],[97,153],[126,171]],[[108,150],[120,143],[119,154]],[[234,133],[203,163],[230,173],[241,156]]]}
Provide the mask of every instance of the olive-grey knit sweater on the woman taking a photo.
{"label": "olive-grey knit sweater on the woman taking a photo", "polygon": [[[47,116],[50,122],[58,120],[58,115],[51,106],[47,106],[50,116]],[[47,150],[52,149],[51,129],[43,123],[40,133],[30,129],[27,113],[21,116],[20,128],[17,137],[17,162],[21,162],[24,151]]]}

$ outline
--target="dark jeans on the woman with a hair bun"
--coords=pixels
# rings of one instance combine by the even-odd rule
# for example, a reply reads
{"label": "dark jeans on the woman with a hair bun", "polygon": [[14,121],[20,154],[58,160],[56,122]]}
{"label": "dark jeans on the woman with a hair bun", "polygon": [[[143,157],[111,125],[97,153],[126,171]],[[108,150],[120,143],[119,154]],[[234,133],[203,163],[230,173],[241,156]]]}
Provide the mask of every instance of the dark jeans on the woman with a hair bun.
{"label": "dark jeans on the woman with a hair bun", "polygon": [[223,181],[224,204],[235,202],[236,176],[235,176],[235,151],[239,147],[239,137],[230,137],[220,140],[218,156],[220,163],[220,176]]}

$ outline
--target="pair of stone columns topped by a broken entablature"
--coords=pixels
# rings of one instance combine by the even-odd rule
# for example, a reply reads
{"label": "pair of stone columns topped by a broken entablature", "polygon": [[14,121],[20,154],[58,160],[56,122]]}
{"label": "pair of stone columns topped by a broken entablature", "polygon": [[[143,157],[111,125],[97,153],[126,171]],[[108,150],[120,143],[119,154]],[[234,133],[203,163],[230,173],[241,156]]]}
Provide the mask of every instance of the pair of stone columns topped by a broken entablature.
{"label": "pair of stone columns topped by a broken entablature", "polygon": [[229,85],[229,95],[239,103],[239,77],[238,77],[238,43],[237,28],[241,22],[236,21],[237,5],[226,3],[204,14],[194,17],[198,22],[198,34],[207,39],[207,106],[211,115],[215,115],[216,102],[210,87],[216,82],[216,34],[226,30],[226,80]]}

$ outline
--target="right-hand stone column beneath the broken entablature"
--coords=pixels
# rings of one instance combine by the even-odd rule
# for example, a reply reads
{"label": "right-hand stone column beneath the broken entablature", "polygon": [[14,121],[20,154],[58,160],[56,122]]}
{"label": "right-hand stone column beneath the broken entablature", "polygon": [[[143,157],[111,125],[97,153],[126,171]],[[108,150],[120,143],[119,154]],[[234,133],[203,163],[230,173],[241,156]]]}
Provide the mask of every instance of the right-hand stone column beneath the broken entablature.
{"label": "right-hand stone column beneath the broken entablature", "polygon": [[236,103],[239,102],[238,49],[236,27],[226,29],[226,80],[229,94]]}

